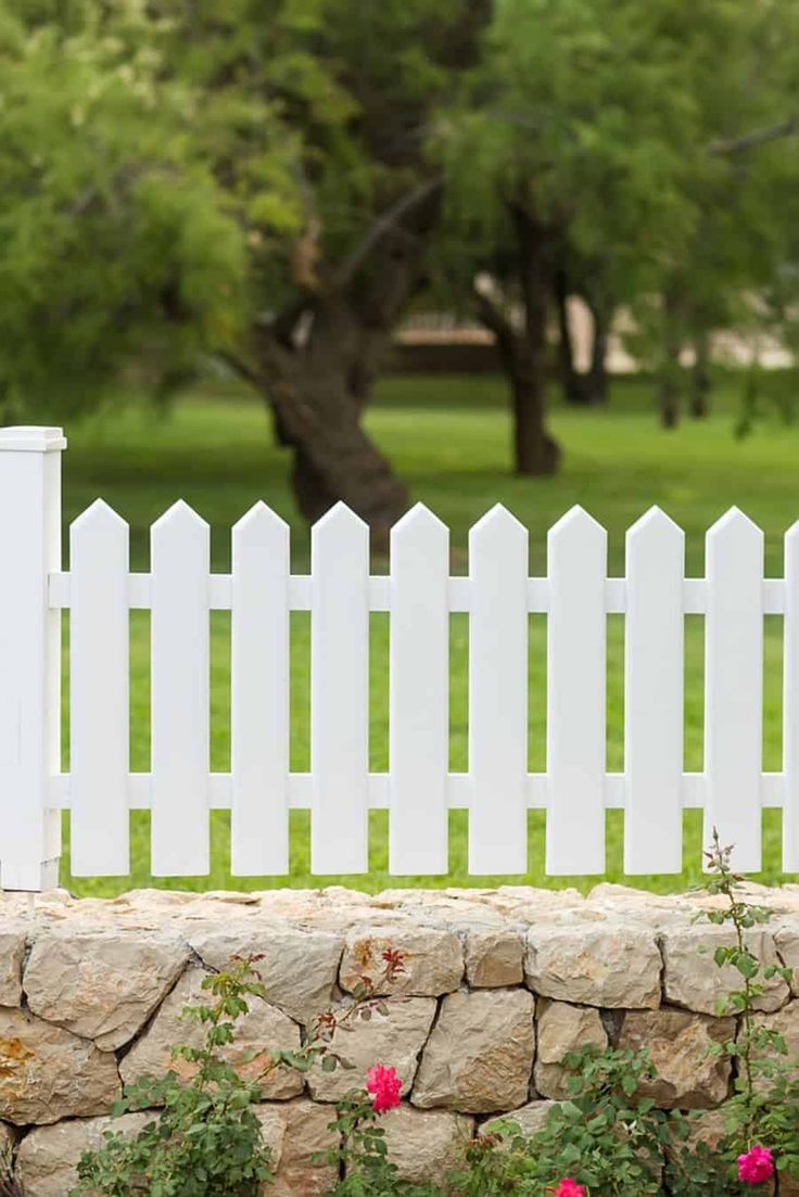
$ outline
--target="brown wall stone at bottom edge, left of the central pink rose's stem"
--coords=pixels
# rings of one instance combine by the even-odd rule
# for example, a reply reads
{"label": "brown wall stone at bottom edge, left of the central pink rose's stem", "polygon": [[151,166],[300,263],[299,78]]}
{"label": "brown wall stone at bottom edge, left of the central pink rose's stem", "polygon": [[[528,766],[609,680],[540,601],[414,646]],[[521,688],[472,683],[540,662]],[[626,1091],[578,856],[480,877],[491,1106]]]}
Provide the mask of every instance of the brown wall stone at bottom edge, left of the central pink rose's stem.
{"label": "brown wall stone at bottom edge, left of the central pink rose's stem", "polygon": [[333,1171],[327,1165],[315,1163],[314,1157],[316,1153],[328,1152],[335,1142],[328,1130],[329,1106],[298,1098],[277,1107],[258,1106],[255,1112],[264,1140],[272,1148],[273,1165],[277,1165],[274,1183],[266,1187],[267,1197],[322,1197],[327,1193],[333,1185]]}

